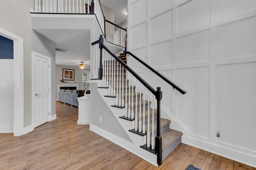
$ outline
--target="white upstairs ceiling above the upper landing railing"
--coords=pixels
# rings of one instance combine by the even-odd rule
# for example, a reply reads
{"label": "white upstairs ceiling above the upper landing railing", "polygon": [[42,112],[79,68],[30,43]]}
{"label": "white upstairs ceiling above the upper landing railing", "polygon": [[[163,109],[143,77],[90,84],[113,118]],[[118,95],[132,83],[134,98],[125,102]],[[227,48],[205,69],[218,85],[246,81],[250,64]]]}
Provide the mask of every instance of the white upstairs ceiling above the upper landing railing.
{"label": "white upstairs ceiling above the upper landing railing", "polygon": [[116,25],[127,20],[124,14],[127,10],[127,0],[100,0],[100,3],[114,11]]}

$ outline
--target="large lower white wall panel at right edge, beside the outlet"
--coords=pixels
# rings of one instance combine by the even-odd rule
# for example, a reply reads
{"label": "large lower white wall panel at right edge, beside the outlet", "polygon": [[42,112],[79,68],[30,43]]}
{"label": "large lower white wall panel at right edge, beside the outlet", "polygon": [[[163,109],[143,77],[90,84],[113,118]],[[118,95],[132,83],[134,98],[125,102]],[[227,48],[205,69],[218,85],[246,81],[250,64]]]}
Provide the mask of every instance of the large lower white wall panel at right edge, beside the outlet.
{"label": "large lower white wall panel at right edge, beside the outlet", "polygon": [[216,128],[222,133],[218,142],[254,152],[256,136],[251,130],[256,130],[255,73],[256,62],[216,66]]}

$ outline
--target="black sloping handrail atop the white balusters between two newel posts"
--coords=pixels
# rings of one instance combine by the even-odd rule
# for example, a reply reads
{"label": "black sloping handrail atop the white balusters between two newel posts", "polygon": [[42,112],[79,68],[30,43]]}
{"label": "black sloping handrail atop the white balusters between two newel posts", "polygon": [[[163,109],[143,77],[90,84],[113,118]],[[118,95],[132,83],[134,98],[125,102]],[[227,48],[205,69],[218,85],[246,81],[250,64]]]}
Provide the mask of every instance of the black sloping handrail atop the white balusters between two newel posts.
{"label": "black sloping handrail atop the white balusters between two newel posts", "polygon": [[102,47],[110,55],[112,55],[112,57],[114,57],[114,59],[116,59],[122,66],[124,66],[124,68],[126,68],[130,73],[132,73],[132,75],[136,77],[136,79],[138,79],[138,81],[140,81],[140,83],[142,83],[149,91],[151,91],[151,93],[153,93],[155,96],[157,95],[156,90],[151,85],[149,85],[144,79],[142,79],[142,77],[140,77],[135,71],[133,71],[128,65],[126,65],[124,61],[118,58],[110,49],[108,49],[108,47],[106,47],[104,44],[102,44]]}

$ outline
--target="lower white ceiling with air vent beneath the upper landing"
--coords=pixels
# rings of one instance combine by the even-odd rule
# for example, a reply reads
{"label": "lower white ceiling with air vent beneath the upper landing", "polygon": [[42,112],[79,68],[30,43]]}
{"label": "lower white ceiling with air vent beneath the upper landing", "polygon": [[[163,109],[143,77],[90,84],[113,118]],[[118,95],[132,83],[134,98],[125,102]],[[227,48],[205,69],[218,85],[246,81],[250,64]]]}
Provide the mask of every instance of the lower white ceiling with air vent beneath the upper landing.
{"label": "lower white ceiling with air vent beneath the upper landing", "polygon": [[56,43],[56,65],[74,66],[82,61],[90,65],[90,30],[34,29]]}

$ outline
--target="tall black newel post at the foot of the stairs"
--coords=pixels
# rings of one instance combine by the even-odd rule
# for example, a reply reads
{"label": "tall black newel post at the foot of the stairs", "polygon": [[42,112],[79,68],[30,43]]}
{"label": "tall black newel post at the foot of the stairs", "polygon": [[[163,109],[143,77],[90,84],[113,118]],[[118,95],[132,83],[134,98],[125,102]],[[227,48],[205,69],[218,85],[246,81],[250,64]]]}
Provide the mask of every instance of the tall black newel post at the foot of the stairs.
{"label": "tall black newel post at the foot of the stairs", "polygon": [[157,119],[156,119],[156,153],[157,153],[157,164],[162,164],[162,137],[161,137],[161,122],[160,122],[160,101],[162,99],[161,87],[157,87],[156,100],[157,100]]}

